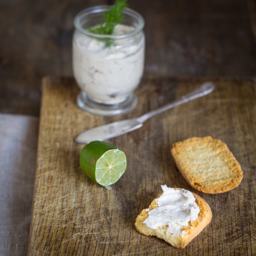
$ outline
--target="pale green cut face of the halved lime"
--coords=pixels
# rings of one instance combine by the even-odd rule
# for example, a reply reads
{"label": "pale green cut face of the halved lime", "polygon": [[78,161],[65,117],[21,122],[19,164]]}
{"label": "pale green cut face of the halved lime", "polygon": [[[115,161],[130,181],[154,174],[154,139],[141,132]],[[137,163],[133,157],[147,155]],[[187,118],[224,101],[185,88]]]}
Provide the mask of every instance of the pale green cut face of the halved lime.
{"label": "pale green cut face of the halved lime", "polygon": [[95,169],[96,182],[109,186],[117,182],[126,169],[126,156],[119,149],[110,149],[98,159]]}

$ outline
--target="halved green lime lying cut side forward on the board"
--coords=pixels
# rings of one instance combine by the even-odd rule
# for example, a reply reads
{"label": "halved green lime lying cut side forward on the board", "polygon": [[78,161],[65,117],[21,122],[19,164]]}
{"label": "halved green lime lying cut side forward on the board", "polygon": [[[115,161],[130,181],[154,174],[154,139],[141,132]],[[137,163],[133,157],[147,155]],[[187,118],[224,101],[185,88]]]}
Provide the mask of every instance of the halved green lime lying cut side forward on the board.
{"label": "halved green lime lying cut side forward on the board", "polygon": [[80,154],[82,171],[101,186],[117,182],[125,172],[126,155],[119,148],[103,141],[92,141]]}

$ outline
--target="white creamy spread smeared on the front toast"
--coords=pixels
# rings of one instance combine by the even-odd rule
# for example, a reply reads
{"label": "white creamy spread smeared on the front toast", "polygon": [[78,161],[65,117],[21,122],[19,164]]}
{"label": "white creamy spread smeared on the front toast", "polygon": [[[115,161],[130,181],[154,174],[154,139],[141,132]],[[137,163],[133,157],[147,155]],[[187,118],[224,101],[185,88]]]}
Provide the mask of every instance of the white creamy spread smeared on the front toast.
{"label": "white creamy spread smeared on the front toast", "polygon": [[183,236],[186,231],[181,228],[188,227],[189,221],[195,221],[200,212],[195,197],[185,189],[171,189],[166,185],[161,188],[162,195],[155,199],[158,207],[148,211],[143,223],[150,229],[168,225],[167,232],[173,233],[173,236]]}

